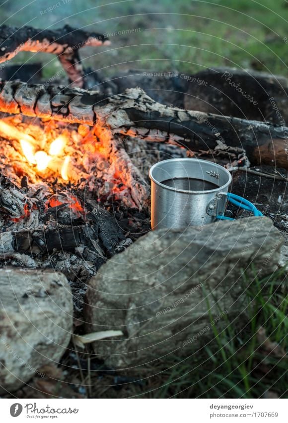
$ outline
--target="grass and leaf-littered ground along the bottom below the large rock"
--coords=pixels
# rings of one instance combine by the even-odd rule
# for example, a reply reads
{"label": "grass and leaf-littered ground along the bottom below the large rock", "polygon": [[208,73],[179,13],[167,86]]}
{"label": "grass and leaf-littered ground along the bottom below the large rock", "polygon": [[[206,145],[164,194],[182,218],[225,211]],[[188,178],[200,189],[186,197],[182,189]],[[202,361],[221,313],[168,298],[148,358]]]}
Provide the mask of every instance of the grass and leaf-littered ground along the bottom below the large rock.
{"label": "grass and leaf-littered ground along the bottom below the large rock", "polygon": [[[247,307],[244,322],[229,321],[229,313],[224,314],[221,324],[213,325],[209,337],[199,338],[199,349],[191,348],[186,358],[170,355],[109,375],[97,361],[100,373],[79,371],[67,355],[64,386],[71,390],[74,384],[77,392],[88,385],[89,398],[287,398],[287,280],[283,269],[262,279],[244,274],[239,282],[243,308]],[[216,311],[220,315],[222,310]],[[89,354],[92,363],[95,355],[89,347],[81,358],[87,360]],[[61,389],[54,395],[61,396]]]}

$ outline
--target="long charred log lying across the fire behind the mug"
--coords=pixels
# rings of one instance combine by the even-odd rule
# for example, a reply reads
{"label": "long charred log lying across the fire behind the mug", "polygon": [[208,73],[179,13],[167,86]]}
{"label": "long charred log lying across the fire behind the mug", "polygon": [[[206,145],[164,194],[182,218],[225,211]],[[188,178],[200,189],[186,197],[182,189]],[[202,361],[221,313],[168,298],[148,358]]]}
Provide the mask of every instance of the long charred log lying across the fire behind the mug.
{"label": "long charred log lying across the fire behind the mug", "polygon": [[0,111],[87,124],[192,151],[246,152],[253,164],[288,168],[287,127],[167,107],[140,88],[105,98],[96,91],[2,81]]}

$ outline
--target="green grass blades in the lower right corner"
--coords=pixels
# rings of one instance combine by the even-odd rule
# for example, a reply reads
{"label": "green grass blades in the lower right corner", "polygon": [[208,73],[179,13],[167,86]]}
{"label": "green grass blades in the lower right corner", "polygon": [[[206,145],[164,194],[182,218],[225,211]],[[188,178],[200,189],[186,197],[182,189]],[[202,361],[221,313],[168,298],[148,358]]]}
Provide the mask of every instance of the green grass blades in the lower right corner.
{"label": "green grass blades in the lower right corner", "polygon": [[[247,288],[248,286],[248,288]],[[227,315],[222,331],[214,325],[214,339],[197,354],[163,363],[161,386],[140,397],[152,398],[260,398],[267,392],[287,395],[288,297],[283,271],[265,279],[243,277],[249,302],[248,323],[239,332]],[[266,331],[265,348],[257,331]],[[275,348],[276,344],[279,344]],[[271,351],[269,350],[271,348]],[[193,358],[192,358],[193,357]],[[159,372],[159,368],[157,369]],[[266,393],[266,394],[265,394]]]}

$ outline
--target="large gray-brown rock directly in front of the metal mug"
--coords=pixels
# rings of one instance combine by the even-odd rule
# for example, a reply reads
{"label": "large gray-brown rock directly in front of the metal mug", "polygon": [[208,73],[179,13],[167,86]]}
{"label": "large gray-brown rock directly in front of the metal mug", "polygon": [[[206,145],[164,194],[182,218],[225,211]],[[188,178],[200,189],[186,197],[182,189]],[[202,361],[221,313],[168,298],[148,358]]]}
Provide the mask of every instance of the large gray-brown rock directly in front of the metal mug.
{"label": "large gray-brown rock directly in front of the metal mug", "polygon": [[[115,256],[90,281],[87,331],[120,329],[124,338],[94,342],[116,368],[169,353],[185,356],[209,341],[213,326],[245,322],[243,271],[277,268],[282,237],[268,218],[219,221],[150,232]],[[212,323],[211,323],[212,322]]]}

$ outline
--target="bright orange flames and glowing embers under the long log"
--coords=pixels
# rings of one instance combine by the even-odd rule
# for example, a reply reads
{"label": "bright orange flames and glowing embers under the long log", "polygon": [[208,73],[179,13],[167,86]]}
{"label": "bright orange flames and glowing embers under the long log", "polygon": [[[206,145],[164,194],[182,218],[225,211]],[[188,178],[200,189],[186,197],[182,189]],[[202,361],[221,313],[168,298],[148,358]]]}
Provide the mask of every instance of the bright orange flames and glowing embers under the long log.
{"label": "bright orange flames and glowing embers under the long log", "polygon": [[[5,168],[2,176],[15,184],[14,190],[9,190],[13,196],[10,217],[14,223],[37,227],[39,215],[36,218],[37,207],[32,200],[37,197],[44,203],[45,212],[69,206],[74,218],[85,216],[85,206],[72,194],[76,190],[97,192],[98,202],[109,197],[122,201],[124,195],[126,202],[135,206],[127,187],[121,183],[121,175],[110,166],[108,152],[89,128],[79,126],[76,131],[53,123],[41,126],[20,121],[21,118],[0,121],[3,138],[0,160]],[[16,194],[16,186],[24,190],[23,198]],[[3,196],[2,188],[5,208]]]}

